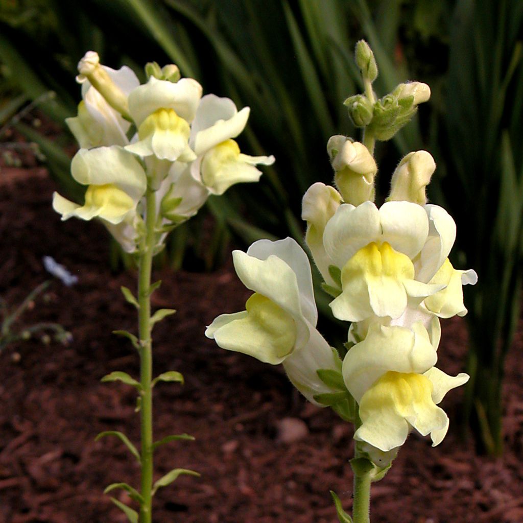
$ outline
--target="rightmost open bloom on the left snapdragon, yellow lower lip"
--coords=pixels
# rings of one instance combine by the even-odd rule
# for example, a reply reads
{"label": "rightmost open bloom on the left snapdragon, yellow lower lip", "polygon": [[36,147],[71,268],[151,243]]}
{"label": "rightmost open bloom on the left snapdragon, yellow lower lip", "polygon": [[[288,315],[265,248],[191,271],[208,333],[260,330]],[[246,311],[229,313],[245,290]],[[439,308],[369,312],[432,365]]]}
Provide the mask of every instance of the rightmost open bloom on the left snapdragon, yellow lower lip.
{"label": "rightmost open bloom on the left snapdragon, yellow lower lip", "polygon": [[256,165],[272,165],[274,156],[249,156],[240,152],[233,138],[247,123],[250,109],[238,111],[230,98],[206,95],[201,99],[191,126],[189,144],[198,156],[192,176],[211,194],[221,195],[231,185],[258,181]]}

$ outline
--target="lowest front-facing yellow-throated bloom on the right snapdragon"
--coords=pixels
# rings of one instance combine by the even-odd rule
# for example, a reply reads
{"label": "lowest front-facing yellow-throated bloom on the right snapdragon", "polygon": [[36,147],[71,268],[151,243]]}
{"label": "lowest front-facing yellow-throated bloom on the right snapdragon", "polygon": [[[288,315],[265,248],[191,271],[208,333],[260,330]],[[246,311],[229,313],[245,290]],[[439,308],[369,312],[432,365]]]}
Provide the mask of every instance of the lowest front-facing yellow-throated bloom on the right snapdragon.
{"label": "lowest front-facing yellow-throated bloom on the right snapdragon", "polygon": [[437,404],[469,376],[451,377],[434,367],[437,333],[436,338],[420,322],[411,328],[374,323],[365,340],[348,351],[343,377],[359,404],[356,440],[389,452],[416,429],[430,434],[434,446],[442,441],[449,420]]}

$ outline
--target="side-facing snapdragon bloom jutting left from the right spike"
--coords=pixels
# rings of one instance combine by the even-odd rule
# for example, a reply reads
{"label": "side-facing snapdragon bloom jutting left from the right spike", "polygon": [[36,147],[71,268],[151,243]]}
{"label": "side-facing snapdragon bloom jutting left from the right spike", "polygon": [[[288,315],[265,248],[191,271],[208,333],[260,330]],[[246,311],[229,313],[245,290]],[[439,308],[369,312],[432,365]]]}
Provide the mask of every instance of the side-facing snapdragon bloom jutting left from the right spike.
{"label": "side-facing snapdragon bloom jutting left from the right spike", "polygon": [[245,311],[218,316],[206,336],[222,348],[283,364],[289,379],[311,402],[332,392],[318,369],[337,370],[332,349],[317,332],[309,260],[291,238],[259,240],[247,253],[233,252],[234,267],[254,291]]}

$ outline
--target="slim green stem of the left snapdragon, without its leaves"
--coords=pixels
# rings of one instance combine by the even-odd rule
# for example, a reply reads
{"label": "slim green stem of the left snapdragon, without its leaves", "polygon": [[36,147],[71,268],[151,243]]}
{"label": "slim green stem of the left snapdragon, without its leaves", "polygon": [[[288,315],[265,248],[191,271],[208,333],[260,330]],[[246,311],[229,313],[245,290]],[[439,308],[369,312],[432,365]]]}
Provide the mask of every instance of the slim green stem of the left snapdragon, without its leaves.
{"label": "slim green stem of the left snapdragon, without its leaves", "polygon": [[153,394],[152,394],[152,340],[151,340],[151,269],[155,242],[156,197],[154,191],[147,188],[145,237],[141,245],[138,275],[138,311],[140,333],[140,382],[142,401],[140,410],[141,428],[141,494],[143,503],[140,507],[140,523],[151,523],[152,487],[153,487]]}

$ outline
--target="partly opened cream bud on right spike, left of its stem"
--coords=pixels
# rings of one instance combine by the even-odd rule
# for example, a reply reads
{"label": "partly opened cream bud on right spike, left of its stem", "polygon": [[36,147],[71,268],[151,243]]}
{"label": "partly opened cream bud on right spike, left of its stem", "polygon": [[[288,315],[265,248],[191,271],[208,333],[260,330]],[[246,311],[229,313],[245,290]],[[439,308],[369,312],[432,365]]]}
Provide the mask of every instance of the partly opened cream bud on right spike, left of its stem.
{"label": "partly opened cream bud on right spike, left of its stem", "polygon": [[327,151],[336,173],[334,183],[343,200],[354,206],[374,200],[374,176],[378,167],[367,147],[338,135],[329,139]]}

